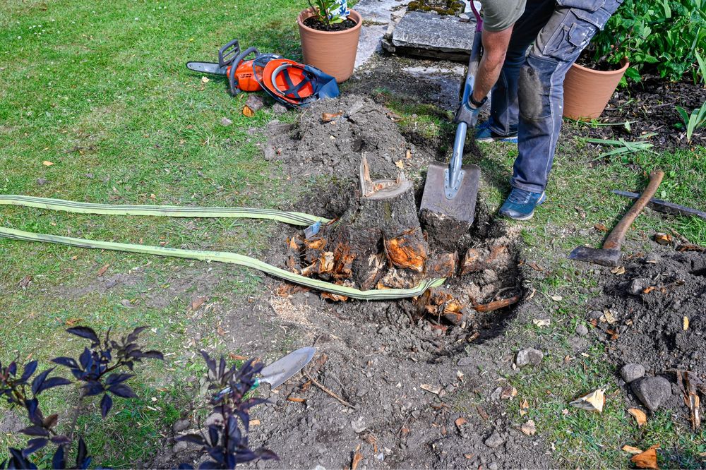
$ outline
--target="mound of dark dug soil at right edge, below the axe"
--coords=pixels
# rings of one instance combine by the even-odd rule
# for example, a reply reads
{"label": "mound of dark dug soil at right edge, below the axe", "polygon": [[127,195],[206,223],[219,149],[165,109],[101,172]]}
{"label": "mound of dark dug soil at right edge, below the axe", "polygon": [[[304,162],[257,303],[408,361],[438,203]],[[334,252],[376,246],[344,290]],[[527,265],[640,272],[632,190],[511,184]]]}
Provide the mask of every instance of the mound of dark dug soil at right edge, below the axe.
{"label": "mound of dark dug soil at right edge, below the axe", "polygon": [[592,315],[614,361],[706,378],[706,255],[650,254],[610,276]]}

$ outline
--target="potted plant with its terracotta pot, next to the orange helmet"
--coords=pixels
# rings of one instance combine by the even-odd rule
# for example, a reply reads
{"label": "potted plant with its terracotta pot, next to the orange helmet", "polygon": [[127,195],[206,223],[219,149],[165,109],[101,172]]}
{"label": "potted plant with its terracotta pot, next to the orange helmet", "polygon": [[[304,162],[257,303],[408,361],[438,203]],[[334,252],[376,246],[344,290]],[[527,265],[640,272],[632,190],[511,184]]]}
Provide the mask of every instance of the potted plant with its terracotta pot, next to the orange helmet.
{"label": "potted plant with its terracotta pot, next to the orange helmet", "polygon": [[304,63],[344,82],[353,74],[363,18],[345,1],[309,0],[299,13],[299,37]]}

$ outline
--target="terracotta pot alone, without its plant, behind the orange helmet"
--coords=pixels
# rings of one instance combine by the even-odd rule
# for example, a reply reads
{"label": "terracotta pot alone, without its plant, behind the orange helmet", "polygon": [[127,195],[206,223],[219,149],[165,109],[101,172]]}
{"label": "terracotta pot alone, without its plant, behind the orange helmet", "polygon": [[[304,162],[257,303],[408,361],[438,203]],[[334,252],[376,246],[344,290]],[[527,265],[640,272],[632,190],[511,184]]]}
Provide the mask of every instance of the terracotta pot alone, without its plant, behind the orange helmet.
{"label": "terracotta pot alone, without its plant, behind the orange helmet", "polygon": [[320,68],[336,78],[338,83],[345,82],[353,74],[355,56],[358,52],[358,40],[363,18],[357,11],[350,11],[349,19],[356,25],[345,31],[319,31],[304,25],[304,20],[313,16],[310,8],[299,13],[299,37],[304,64]]}

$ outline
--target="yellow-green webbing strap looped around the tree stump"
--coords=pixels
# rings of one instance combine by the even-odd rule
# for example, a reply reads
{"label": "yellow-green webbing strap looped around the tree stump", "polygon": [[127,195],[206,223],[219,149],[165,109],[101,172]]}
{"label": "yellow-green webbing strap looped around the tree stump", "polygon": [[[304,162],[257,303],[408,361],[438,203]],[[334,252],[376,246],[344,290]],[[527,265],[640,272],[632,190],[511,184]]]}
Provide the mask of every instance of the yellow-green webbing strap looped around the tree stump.
{"label": "yellow-green webbing strap looped around the tree stump", "polygon": [[[280,220],[295,225],[309,225],[321,221],[328,222],[328,219],[314,217],[312,215],[300,214],[299,212],[281,212],[277,210],[251,209],[245,207],[169,207],[169,206],[125,206],[125,205],[105,205],[75,203],[66,200],[30,198],[28,196],[0,195],[0,204],[26,205],[29,207],[42,207],[53,210],[66,210],[68,212],[78,212],[81,214],[107,214],[107,215],[154,215],[157,217],[243,217],[256,219]],[[129,209],[125,209],[128,207]],[[162,210],[166,208],[166,210]],[[100,211],[100,212],[97,212]],[[215,211],[215,212],[214,212]],[[175,213],[184,215],[174,215]],[[203,215],[203,214],[211,215]],[[213,215],[215,213],[227,215]],[[186,215],[189,214],[189,215]],[[197,215],[201,214],[201,215]],[[307,220],[308,222],[304,222]],[[318,279],[310,279],[294,274],[279,267],[269,265],[261,260],[256,260],[245,255],[229,253],[227,251],[203,251],[203,250],[182,250],[179,248],[164,248],[162,246],[146,246],[132,243],[114,243],[110,241],[96,241],[86,239],[76,239],[70,236],[58,236],[47,234],[35,234],[30,231],[16,229],[6,229],[0,227],[0,237],[24,240],[24,241],[44,241],[48,243],[60,243],[62,245],[79,246],[82,248],[98,248],[101,250],[125,251],[128,253],[143,253],[146,255],[172,256],[175,258],[190,258],[203,261],[220,261],[221,263],[232,263],[236,265],[251,267],[280,277],[289,282],[301,284],[312,289],[331,292],[352,299],[361,300],[385,300],[402,299],[403,297],[418,296],[430,287],[439,287],[445,279],[425,279],[417,287],[412,289],[380,289],[371,291],[361,291],[352,287],[339,286],[330,282]]]}

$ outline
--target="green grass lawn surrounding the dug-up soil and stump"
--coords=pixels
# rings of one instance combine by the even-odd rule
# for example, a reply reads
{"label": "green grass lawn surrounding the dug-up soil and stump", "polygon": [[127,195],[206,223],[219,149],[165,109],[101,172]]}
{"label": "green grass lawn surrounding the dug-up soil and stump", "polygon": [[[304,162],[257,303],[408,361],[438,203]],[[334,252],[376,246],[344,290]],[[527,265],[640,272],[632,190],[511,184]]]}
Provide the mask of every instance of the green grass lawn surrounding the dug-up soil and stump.
{"label": "green grass lawn surrounding the dug-up soil and stump", "polygon": [[[288,186],[272,177],[280,169],[260,158],[256,144],[263,136],[248,132],[262,128],[273,114],[265,107],[253,119],[242,116],[245,96],[229,97],[219,78],[202,83],[184,63],[215,60],[220,44],[233,37],[245,47],[299,59],[294,18],[304,6],[305,1],[282,0],[266,4],[6,0],[0,9],[0,193],[93,203],[251,207],[275,207],[292,198]],[[430,133],[448,131],[448,123],[439,122],[431,109],[394,101],[390,105],[407,121],[419,119]],[[223,117],[231,119],[232,126],[222,126]],[[515,150],[510,146],[481,150],[484,158],[479,164],[490,181],[484,195],[497,207],[507,189]],[[646,181],[644,172],[656,166],[667,174],[662,198],[703,209],[705,150],[593,162],[598,153],[582,140],[562,141],[549,202],[523,226],[529,258],[544,260],[547,251],[564,253],[580,243],[599,246],[602,234],[591,231],[582,236],[579,231],[591,230],[596,222],[607,226],[616,222],[630,202],[609,191],[639,190]],[[577,207],[587,214],[585,219]],[[8,206],[0,208],[0,225],[245,254],[261,250],[274,227],[269,222],[126,219]],[[649,237],[671,227],[693,243],[706,244],[704,222],[655,214],[640,217],[630,237]],[[536,279],[534,287],[541,294],[561,293],[566,300],[553,311],[557,321],[552,327],[516,326],[527,328],[528,341],[564,341],[585,315],[587,294],[578,288],[595,287],[561,256],[547,263],[551,275]],[[97,273],[106,265],[102,277],[124,275],[131,283],[108,294],[95,291],[102,282]],[[214,295],[226,302],[259,289],[256,272],[231,266],[214,270],[221,275]],[[69,340],[63,330],[77,321],[121,333],[149,325],[144,342],[167,354],[167,361],[145,367],[136,380],[140,400],[116,405],[104,424],[88,417],[80,421],[82,428],[92,429],[88,445],[96,464],[121,468],[144,462],[171,423],[191,406],[184,388],[193,386],[194,377],[204,370],[193,353],[212,344],[216,319],[208,313],[193,315],[189,309],[200,293],[190,279],[203,272],[202,263],[189,260],[0,239],[0,362],[30,357],[47,361],[75,354],[83,343]],[[32,283],[23,289],[18,283],[25,276],[31,276]],[[199,327],[211,335],[189,344],[191,331]],[[622,409],[612,406],[602,416],[563,418],[563,402],[575,390],[614,382],[599,351],[574,366],[545,372],[523,377],[518,388],[537,404],[531,416],[548,442],[556,443],[558,462],[566,466],[624,465],[624,456],[616,451],[624,443],[659,441],[688,450],[689,455],[705,450],[697,439],[689,440],[690,435],[680,437],[669,416],[660,415],[639,431],[630,428]],[[548,389],[556,390],[557,400],[563,402],[543,402]],[[43,409],[64,416],[74,392],[60,389],[47,394]],[[135,422],[138,426],[133,426]],[[0,460],[7,445],[19,443],[16,436],[0,435]],[[47,464],[47,455],[37,458]],[[689,457],[686,462],[695,461]]]}

